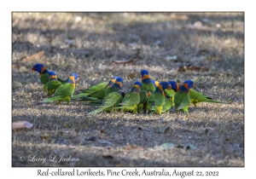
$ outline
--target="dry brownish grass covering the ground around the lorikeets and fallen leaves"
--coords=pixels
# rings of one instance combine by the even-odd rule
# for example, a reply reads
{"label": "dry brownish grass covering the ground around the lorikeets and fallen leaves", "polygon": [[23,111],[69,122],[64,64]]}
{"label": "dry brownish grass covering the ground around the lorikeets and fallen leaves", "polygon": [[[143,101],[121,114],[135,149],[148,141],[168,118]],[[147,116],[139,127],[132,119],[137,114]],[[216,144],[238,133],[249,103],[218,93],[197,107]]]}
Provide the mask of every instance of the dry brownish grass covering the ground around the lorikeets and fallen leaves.
{"label": "dry brownish grass covering the ground around the lorikeets and fallen leaves", "polygon": [[[23,71],[12,72],[12,120],[34,125],[13,131],[13,166],[244,166],[243,18],[242,13],[14,13],[12,63]],[[186,28],[197,20],[211,31]],[[65,43],[67,38],[74,43]],[[41,50],[39,60],[22,58]],[[177,55],[177,61],[166,61],[168,55]],[[112,63],[131,59],[136,63]],[[47,96],[38,73],[31,71],[36,62],[60,78],[79,73],[82,80],[75,94],[112,75],[125,78],[147,69],[160,81],[194,79],[195,90],[232,103],[191,106],[189,118],[174,109],[161,116],[90,117],[87,113],[95,107],[81,102],[40,103]],[[209,71],[178,72],[181,66]],[[125,78],[124,89],[135,80]],[[161,133],[165,127],[169,130]],[[44,134],[48,140],[42,140]],[[166,142],[180,147],[154,148]],[[21,162],[21,154],[47,159],[62,154],[79,161]]]}

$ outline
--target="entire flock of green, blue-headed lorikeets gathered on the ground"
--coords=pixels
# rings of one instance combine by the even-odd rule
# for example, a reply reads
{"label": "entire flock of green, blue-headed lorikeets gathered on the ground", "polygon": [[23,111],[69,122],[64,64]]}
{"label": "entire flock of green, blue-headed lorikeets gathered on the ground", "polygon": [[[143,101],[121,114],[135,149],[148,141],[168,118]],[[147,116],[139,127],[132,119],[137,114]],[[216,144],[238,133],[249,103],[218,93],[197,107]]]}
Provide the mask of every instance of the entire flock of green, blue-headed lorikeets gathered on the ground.
{"label": "entire flock of green, blue-headed lorikeets gathered on the ground", "polygon": [[192,90],[195,86],[192,80],[186,80],[183,84],[175,81],[158,82],[150,78],[147,70],[141,71],[142,82],[135,82],[129,92],[122,90],[123,78],[112,77],[109,82],[102,82],[81,90],[79,95],[73,95],[75,85],[79,82],[79,75],[71,73],[67,80],[58,78],[55,72],[49,72],[43,64],[37,63],[32,71],[38,72],[40,81],[44,84],[44,92],[50,101],[87,101],[84,105],[97,106],[90,115],[121,109],[123,112],[132,113],[166,113],[172,106],[176,111],[189,114],[189,105],[193,103],[197,107],[199,102],[214,102],[211,96]]}

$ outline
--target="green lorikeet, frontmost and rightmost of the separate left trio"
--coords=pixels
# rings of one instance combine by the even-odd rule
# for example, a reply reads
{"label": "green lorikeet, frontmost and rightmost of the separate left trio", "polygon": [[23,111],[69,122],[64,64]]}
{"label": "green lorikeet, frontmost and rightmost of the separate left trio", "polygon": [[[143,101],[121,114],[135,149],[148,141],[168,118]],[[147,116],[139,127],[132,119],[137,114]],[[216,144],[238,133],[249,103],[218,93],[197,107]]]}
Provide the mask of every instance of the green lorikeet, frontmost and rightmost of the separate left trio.
{"label": "green lorikeet, frontmost and rightmost of the separate left trio", "polygon": [[50,102],[50,101],[59,101],[61,104],[61,101],[67,101],[67,104],[70,104],[70,96],[73,95],[76,82],[79,81],[79,75],[77,73],[71,73],[69,78],[67,79],[67,82],[64,84],[61,84],[57,90],[55,90],[55,95],[53,97],[48,98],[47,100],[44,100],[43,102]]}

